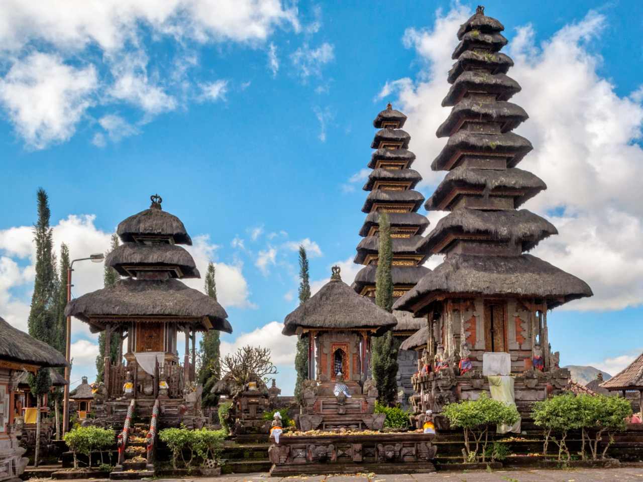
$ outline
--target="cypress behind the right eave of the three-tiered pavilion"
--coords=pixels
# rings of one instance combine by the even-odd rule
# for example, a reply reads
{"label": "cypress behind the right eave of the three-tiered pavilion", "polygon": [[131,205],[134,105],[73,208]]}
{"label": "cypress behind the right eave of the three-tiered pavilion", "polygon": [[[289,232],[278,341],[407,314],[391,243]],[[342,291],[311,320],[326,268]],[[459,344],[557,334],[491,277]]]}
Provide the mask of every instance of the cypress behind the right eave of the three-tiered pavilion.
{"label": "cypress behind the right eave of the three-tiered pavilion", "polygon": [[[215,280],[216,267],[208,263],[205,275],[204,289],[210,298],[217,299],[217,281]],[[218,330],[208,330],[199,341],[199,375],[198,380],[203,385],[201,406],[213,407],[219,403],[219,397],[210,393],[216,382],[221,380],[221,339]]]}

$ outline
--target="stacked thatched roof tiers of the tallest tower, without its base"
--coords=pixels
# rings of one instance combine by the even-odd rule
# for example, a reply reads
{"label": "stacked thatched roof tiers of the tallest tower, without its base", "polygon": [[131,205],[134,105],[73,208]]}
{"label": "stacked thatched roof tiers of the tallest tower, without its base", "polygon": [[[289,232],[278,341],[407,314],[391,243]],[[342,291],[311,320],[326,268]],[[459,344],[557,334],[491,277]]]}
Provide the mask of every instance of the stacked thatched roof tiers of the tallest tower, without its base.
{"label": "stacked thatched roof tiers of the tallest tower, without its base", "polygon": [[442,101],[453,109],[437,130],[449,139],[431,164],[448,174],[424,205],[451,212],[417,244],[419,252],[446,259],[397,300],[397,309],[411,310],[440,292],[530,296],[548,307],[592,296],[583,280],[522,254],[557,231],[539,215],[516,210],[547,186],[515,167],[532,145],[511,132],[528,116],[509,102],[520,85],[506,75],[511,58],[498,52],[507,44],[503,29],[479,6],[458,30],[451,89]]}

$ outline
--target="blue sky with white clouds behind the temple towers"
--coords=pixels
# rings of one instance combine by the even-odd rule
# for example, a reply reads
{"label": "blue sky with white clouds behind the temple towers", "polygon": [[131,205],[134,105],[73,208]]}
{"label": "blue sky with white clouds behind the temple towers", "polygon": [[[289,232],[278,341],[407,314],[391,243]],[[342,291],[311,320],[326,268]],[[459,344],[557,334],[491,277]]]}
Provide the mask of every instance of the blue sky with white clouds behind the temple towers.
{"label": "blue sky with white clouds behind the temple towers", "polygon": [[[0,316],[26,326],[39,186],[74,257],[103,251],[158,192],[199,240],[197,262],[219,267],[235,330],[226,346],[271,346],[287,393],[293,340],[271,322],[296,306],[296,245],[309,246],[316,287],[334,263],[352,280],[361,170],[389,100],[409,116],[419,190],[433,192],[444,176],[429,165],[445,142],[434,132],[448,114],[446,70],[475,4],[173,0],[103,2],[96,13],[98,4],[0,6]],[[549,186],[526,207],[560,231],[534,254],[596,295],[550,314],[552,346],[563,364],[613,373],[643,350],[643,7],[485,6],[505,25],[509,75],[523,86],[514,102],[531,117],[518,132],[535,149],[520,167]],[[76,296],[102,283],[95,265],[77,275]],[[75,326],[74,341],[73,378],[91,376],[95,337]]]}

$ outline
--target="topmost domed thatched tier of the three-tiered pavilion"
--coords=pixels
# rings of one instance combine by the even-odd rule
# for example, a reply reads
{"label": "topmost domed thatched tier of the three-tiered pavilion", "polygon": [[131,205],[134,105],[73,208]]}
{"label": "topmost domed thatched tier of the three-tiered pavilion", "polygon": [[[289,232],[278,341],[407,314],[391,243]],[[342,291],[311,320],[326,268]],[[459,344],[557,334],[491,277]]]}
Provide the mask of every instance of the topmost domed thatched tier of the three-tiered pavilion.
{"label": "topmost domed thatched tier of the three-tiered pavilion", "polygon": [[149,208],[122,220],[116,233],[124,242],[134,241],[135,235],[166,235],[174,238],[176,244],[192,245],[183,222],[160,207]]}

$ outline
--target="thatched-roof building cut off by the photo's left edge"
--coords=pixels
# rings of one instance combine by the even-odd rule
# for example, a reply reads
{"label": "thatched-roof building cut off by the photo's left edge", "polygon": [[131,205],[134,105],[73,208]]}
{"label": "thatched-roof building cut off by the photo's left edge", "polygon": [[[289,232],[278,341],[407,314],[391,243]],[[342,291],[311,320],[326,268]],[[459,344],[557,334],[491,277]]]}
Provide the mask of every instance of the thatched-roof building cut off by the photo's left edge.
{"label": "thatched-roof building cut off by the photo's left edge", "polygon": [[26,373],[62,366],[67,366],[62,353],[0,317],[0,481],[18,482],[28,463],[26,448],[18,440],[24,431],[24,393],[19,393],[19,384]]}

